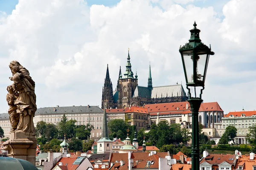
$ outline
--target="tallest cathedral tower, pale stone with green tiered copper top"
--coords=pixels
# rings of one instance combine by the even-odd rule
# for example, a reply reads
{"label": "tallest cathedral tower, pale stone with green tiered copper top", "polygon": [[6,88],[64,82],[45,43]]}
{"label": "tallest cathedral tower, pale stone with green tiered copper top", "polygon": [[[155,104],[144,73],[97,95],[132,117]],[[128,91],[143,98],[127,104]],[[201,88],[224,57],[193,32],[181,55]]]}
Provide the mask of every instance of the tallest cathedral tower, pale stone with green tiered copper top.
{"label": "tallest cathedral tower, pale stone with green tiered copper top", "polygon": [[134,73],[131,71],[130,54],[128,50],[128,58],[126,63],[126,70],[124,76],[119,75],[119,98],[118,108],[126,108],[131,103],[131,98],[134,95],[134,90],[138,85],[137,73],[134,78]]}

